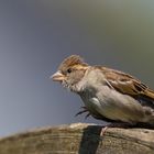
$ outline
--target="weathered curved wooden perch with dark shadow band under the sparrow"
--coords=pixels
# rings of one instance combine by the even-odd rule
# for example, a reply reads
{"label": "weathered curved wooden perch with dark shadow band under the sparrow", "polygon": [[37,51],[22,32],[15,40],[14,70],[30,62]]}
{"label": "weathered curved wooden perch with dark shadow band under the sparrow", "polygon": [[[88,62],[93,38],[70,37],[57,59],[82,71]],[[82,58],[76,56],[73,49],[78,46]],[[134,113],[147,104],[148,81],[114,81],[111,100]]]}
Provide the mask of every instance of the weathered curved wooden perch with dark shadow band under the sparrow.
{"label": "weathered curved wooden perch with dark shadow band under the sparrow", "polygon": [[154,130],[75,123],[48,127],[0,140],[0,154],[154,154]]}

